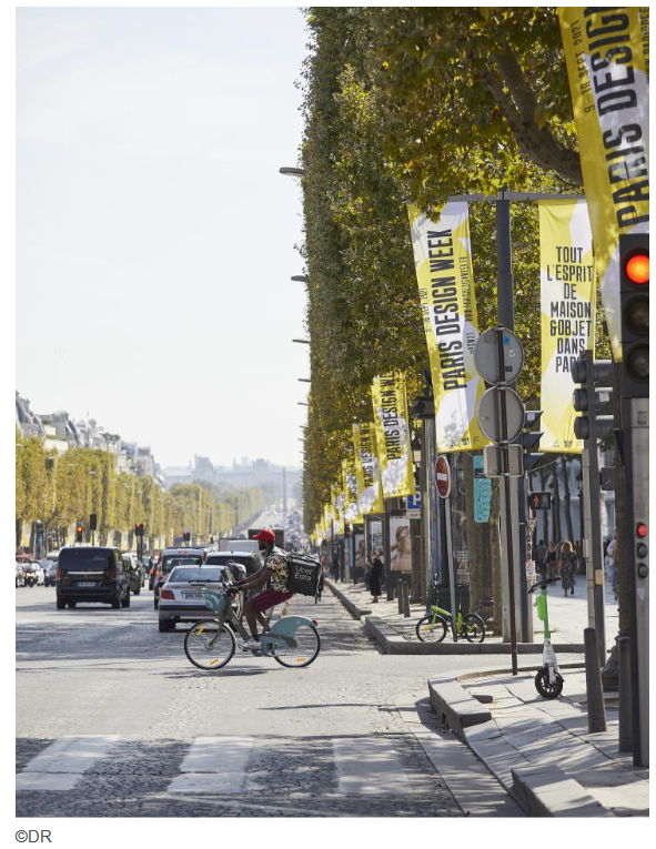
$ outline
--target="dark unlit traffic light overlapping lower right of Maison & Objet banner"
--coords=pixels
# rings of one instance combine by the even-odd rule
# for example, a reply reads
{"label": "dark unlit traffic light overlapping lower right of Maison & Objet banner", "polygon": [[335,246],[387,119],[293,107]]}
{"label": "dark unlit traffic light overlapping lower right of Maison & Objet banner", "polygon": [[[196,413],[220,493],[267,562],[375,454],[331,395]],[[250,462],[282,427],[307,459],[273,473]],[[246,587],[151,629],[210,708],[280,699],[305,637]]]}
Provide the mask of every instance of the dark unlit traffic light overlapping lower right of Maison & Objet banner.
{"label": "dark unlit traffic light overlapping lower right of Maison & Objet banner", "polygon": [[[586,351],[572,364],[572,380],[582,388],[574,390],[574,410],[584,413],[574,420],[574,435],[584,442],[594,442],[605,436],[613,427],[612,364],[609,360],[593,360],[592,351]],[[599,386],[597,388],[597,385]]]}

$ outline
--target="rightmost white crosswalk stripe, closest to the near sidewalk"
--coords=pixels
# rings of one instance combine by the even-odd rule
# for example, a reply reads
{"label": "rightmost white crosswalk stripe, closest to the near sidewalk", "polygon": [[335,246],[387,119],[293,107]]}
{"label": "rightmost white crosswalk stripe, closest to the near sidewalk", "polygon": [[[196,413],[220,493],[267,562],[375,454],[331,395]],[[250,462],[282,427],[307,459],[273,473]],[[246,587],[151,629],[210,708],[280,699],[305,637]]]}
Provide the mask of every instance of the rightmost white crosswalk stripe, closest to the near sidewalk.
{"label": "rightmost white crosswalk stripe, closest to the near sidewalk", "polygon": [[354,796],[398,796],[412,794],[405,767],[382,737],[333,740],[333,755],[340,774],[339,792]]}

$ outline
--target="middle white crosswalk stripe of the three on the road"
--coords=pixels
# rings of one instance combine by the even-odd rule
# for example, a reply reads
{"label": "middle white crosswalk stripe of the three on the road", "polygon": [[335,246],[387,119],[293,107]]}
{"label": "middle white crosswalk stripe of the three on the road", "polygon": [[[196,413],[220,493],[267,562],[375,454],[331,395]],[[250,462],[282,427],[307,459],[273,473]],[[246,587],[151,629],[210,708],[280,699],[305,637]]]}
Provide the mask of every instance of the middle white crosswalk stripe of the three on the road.
{"label": "middle white crosswalk stripe of the three on the road", "polygon": [[169,792],[239,794],[246,780],[253,737],[196,737]]}

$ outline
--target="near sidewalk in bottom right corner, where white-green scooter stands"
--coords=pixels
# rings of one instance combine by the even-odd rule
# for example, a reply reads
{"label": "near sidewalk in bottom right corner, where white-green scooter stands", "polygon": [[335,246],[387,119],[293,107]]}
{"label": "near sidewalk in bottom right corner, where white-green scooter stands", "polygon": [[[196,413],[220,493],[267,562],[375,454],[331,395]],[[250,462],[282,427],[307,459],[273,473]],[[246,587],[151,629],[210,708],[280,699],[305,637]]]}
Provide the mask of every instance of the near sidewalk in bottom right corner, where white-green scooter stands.
{"label": "near sidewalk in bottom right corner, where white-green scooter stands", "polygon": [[636,817],[649,812],[649,770],[618,752],[617,694],[607,730],[588,734],[585,671],[563,670],[558,699],[534,673],[451,674],[428,681],[431,704],[531,816]]}

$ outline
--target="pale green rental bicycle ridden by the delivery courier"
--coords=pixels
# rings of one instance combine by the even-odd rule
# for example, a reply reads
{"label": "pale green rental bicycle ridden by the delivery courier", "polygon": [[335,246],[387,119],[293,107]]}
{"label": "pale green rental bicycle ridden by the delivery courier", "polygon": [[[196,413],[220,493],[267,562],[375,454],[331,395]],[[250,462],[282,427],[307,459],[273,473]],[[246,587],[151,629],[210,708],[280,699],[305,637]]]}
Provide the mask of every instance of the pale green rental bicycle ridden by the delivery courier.
{"label": "pale green rental bicycle ridden by the delivery courier", "polygon": [[[184,637],[184,653],[199,669],[211,673],[229,664],[236,650],[235,634],[243,640],[250,639],[230,604],[236,592],[229,583],[222,583],[219,589],[205,588],[205,605],[215,616],[194,623]],[[305,616],[284,616],[269,627],[270,618],[260,636],[261,648],[251,653],[273,657],[292,669],[310,666],[321,649],[316,621]]]}

